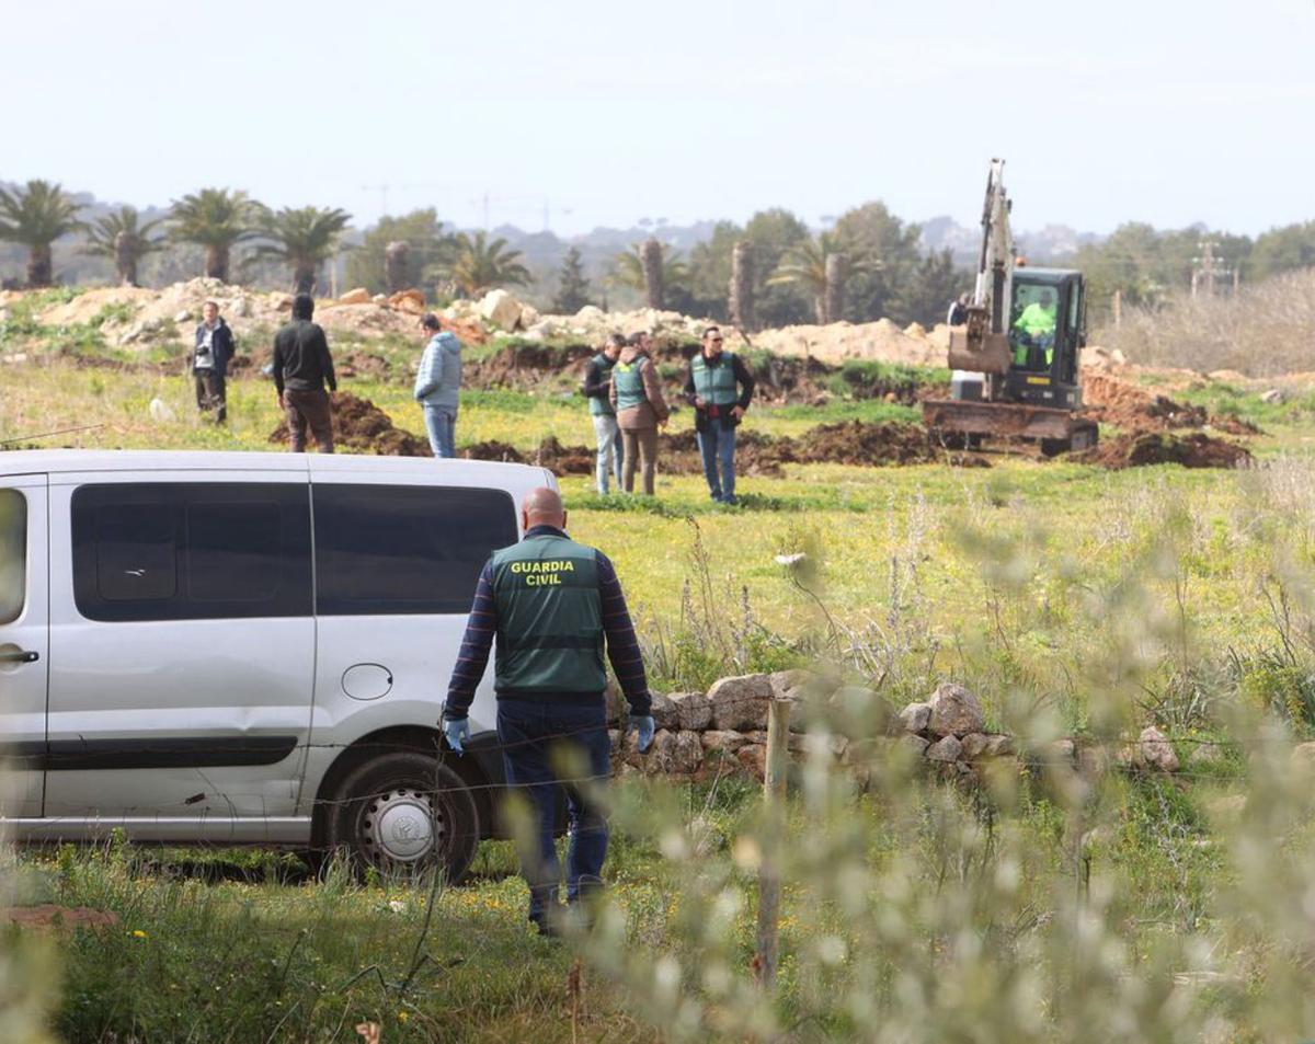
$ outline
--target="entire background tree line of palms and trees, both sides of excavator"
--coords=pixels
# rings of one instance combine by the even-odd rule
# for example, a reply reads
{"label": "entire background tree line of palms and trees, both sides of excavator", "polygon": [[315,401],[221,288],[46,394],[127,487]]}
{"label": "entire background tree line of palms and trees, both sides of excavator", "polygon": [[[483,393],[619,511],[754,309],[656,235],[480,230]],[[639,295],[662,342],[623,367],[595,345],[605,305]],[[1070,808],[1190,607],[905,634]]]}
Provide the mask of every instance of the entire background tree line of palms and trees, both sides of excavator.
{"label": "entire background tree line of palms and trees, both sides of excavator", "polygon": [[[418,287],[442,302],[494,287],[533,287],[530,296],[554,312],[647,304],[747,329],[881,317],[930,325],[972,284],[949,250],[926,251],[922,229],[881,202],[853,208],[821,233],[789,210],[760,210],[743,225],[717,222],[688,254],[648,237],[608,258],[593,279],[576,246],[555,271],[534,272],[506,238],[448,229],[433,208],[384,217],[360,242],[345,241],[351,216],[342,209],[275,210],[225,188],[185,195],[149,221],[133,206],[89,221],[82,220],[82,209],[60,185],[42,180],[0,189],[0,239],[26,247],[29,285],[53,281],[51,246],[70,235],[80,235],[82,252],[108,259],[120,281],[132,285],[146,258],[175,245],[199,250],[206,276],[264,281],[283,272],[297,291],[313,289],[326,263],[342,252],[346,284],[372,293]],[[1315,266],[1315,221],[1255,239],[1127,224],[1060,263],[1086,273],[1097,313],[1109,310],[1115,292],[1127,305],[1153,308],[1191,285],[1207,243],[1220,285],[1233,272],[1251,283]],[[554,256],[560,255],[554,250]]]}

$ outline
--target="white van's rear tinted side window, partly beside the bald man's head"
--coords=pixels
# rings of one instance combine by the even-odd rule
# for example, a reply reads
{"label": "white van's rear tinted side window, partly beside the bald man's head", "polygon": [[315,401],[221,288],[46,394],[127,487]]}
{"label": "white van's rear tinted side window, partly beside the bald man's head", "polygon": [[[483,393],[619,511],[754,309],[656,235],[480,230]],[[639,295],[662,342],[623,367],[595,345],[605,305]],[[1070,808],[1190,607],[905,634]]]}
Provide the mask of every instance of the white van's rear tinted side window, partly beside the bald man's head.
{"label": "white van's rear tinted side window, partly beside the bald man's head", "polygon": [[316,483],[312,498],[322,615],[469,613],[488,556],[518,539],[497,489]]}

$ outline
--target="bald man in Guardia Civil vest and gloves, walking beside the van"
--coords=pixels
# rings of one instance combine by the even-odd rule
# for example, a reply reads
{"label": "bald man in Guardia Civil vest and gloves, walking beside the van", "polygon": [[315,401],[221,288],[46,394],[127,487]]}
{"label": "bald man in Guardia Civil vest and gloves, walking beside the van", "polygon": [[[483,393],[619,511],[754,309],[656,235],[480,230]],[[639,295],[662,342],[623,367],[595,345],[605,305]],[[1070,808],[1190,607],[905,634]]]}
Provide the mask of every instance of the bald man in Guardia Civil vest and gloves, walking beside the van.
{"label": "bald man in Guardia Civil vest and gloves, walking beside the van", "polygon": [[[530,885],[530,920],[556,935],[562,872],[554,844],[559,748],[575,747],[588,765],[588,786],[565,785],[571,820],[567,903],[589,898],[602,885],[608,819],[598,807],[610,774],[605,692],[608,659],[630,703],[639,749],[654,738],[648,680],[639,642],[611,561],[565,534],[562,497],[547,486],[521,505],[521,543],[496,551],[480,573],[466,638],[443,705],[443,734],[462,753],[469,738],[467,714],[497,636],[493,689],[497,735],[512,786],[530,798],[538,851],[522,852]],[[565,759],[579,761],[579,759]]]}

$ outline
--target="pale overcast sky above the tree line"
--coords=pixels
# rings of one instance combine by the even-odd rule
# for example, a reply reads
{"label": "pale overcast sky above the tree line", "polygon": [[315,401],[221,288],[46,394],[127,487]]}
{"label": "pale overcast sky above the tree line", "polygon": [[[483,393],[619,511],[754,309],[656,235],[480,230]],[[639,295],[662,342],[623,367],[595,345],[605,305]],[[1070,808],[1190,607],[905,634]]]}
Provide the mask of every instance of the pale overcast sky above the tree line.
{"label": "pale overcast sky above the tree line", "polygon": [[1315,218],[1315,0],[4,0],[0,179],[569,234]]}

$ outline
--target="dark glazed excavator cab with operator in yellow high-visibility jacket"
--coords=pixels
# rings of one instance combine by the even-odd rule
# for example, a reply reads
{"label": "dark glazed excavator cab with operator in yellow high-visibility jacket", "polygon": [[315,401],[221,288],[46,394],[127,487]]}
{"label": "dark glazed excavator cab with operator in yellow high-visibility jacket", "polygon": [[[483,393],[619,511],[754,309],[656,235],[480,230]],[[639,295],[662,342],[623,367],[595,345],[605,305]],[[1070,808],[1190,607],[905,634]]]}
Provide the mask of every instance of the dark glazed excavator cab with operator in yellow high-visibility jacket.
{"label": "dark glazed excavator cab with operator in yellow high-visibility jacket", "polygon": [[1009,369],[993,398],[1078,409],[1078,351],[1086,343],[1082,273],[1063,268],[1014,271],[1009,309]]}

